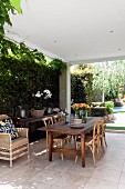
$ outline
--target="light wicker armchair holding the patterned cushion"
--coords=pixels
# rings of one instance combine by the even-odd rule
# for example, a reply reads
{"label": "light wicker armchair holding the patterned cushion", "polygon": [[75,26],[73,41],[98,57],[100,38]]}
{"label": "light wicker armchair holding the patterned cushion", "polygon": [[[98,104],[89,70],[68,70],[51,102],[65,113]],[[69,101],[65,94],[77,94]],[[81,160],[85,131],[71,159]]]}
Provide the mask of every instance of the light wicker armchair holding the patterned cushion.
{"label": "light wicker armchair holding the patterned cushion", "polygon": [[28,155],[29,158],[29,138],[28,128],[15,128],[19,138],[12,140],[11,133],[0,132],[0,159],[12,161],[19,157]]}

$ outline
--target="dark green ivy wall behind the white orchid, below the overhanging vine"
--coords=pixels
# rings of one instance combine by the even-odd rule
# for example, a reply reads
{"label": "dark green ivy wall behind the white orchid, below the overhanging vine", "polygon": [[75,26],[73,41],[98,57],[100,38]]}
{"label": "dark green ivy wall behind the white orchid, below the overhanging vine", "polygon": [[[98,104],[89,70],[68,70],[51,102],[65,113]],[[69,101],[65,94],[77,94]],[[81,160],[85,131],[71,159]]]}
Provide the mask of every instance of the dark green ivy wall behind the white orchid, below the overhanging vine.
{"label": "dark green ivy wall behind the white orchid, below the overhanging vine", "polygon": [[51,68],[33,62],[0,61],[0,111],[14,113],[20,105],[34,103],[32,93],[49,89],[52,98],[42,100],[43,107],[59,106],[59,74]]}

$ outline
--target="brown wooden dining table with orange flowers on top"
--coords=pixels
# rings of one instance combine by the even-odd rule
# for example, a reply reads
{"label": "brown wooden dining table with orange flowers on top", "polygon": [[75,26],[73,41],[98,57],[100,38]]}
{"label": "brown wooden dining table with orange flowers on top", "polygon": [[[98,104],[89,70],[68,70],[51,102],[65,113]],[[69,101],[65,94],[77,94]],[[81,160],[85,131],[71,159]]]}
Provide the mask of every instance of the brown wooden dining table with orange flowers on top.
{"label": "brown wooden dining table with orange flowers on top", "polygon": [[83,123],[83,128],[79,129],[72,128],[71,123],[64,123],[63,121],[41,128],[41,130],[48,131],[49,161],[52,161],[52,152],[77,155],[77,150],[75,148],[67,149],[64,147],[53,147],[53,135],[81,136],[82,167],[85,167],[85,135],[92,131],[94,123],[101,119],[103,119],[103,117],[87,117],[86,123]]}

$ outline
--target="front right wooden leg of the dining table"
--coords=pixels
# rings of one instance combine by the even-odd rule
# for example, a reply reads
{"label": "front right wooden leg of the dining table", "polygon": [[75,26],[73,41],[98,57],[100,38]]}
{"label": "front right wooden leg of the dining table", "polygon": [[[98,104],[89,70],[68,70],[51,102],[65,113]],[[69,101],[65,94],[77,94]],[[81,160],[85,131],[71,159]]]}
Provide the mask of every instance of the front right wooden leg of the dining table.
{"label": "front right wooden leg of the dining table", "polygon": [[81,156],[82,156],[82,167],[85,167],[85,135],[81,135]]}

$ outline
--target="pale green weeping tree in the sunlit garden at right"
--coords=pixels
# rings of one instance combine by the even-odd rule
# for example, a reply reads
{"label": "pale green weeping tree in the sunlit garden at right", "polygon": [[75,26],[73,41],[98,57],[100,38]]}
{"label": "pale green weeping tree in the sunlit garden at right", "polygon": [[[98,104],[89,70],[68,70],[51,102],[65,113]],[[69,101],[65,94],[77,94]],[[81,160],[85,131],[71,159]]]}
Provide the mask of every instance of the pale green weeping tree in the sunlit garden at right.
{"label": "pale green weeping tree in the sunlit garden at right", "polygon": [[113,93],[117,96],[123,89],[124,82],[125,61],[100,62],[94,64],[94,90],[100,90],[107,96]]}

